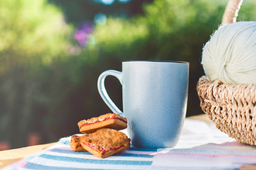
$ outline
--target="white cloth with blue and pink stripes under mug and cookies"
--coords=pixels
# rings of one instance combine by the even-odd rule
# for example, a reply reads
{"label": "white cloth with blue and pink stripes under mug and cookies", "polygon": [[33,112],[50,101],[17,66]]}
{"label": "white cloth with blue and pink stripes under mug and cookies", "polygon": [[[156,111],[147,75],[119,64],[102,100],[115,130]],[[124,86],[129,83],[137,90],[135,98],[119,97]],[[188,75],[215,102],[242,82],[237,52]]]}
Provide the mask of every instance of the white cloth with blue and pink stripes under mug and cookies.
{"label": "white cloth with blue and pink stripes under mug and cookies", "polygon": [[72,151],[70,138],[61,138],[56,145],[4,170],[237,170],[256,163],[256,147],[238,143],[214,124],[199,120],[185,120],[175,148],[131,147],[104,159]]}

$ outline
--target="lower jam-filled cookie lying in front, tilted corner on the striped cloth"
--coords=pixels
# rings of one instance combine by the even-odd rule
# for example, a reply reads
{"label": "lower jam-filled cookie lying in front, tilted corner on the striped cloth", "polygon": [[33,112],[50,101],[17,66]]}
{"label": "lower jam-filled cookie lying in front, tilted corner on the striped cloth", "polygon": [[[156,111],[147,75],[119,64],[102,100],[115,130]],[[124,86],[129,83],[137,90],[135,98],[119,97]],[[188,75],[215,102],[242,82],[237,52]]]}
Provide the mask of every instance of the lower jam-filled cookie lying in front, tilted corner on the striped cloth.
{"label": "lower jam-filled cookie lying in front, tilted corner on the striped cloth", "polygon": [[91,154],[98,158],[106,158],[129,149],[131,139],[117,130],[104,128],[81,136],[80,143]]}

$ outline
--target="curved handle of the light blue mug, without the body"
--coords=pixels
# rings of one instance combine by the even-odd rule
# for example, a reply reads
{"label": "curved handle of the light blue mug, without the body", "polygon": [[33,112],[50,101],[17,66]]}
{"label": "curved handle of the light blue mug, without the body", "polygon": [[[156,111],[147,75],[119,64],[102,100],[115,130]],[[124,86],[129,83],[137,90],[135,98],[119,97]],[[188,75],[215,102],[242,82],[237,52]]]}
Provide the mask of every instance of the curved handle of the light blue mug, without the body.
{"label": "curved handle of the light blue mug, without the body", "polygon": [[105,78],[108,75],[113,75],[113,76],[117,77],[118,80],[120,81],[121,85],[123,85],[123,72],[115,71],[115,70],[107,70],[107,71],[102,72],[98,78],[98,90],[99,90],[100,96],[102,97],[104,102],[108,105],[108,107],[112,110],[112,112],[118,113],[119,115],[123,115],[123,112],[121,112],[121,110],[118,109],[118,107],[115,105],[115,103],[110,99],[110,97],[108,96],[108,93],[105,89],[104,82],[105,82]]}

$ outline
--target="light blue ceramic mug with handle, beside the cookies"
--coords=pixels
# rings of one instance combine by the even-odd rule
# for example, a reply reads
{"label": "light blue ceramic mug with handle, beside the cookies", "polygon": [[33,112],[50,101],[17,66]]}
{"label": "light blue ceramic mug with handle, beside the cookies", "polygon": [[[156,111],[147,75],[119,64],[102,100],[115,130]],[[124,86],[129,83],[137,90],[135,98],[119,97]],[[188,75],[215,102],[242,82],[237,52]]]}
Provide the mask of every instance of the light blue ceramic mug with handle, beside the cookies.
{"label": "light blue ceramic mug with handle, beside the cookies", "polygon": [[[123,61],[122,72],[107,70],[98,79],[102,99],[128,121],[132,145],[172,148],[178,140],[187,110],[189,63],[175,61]],[[123,112],[105,89],[108,75],[123,86]]]}

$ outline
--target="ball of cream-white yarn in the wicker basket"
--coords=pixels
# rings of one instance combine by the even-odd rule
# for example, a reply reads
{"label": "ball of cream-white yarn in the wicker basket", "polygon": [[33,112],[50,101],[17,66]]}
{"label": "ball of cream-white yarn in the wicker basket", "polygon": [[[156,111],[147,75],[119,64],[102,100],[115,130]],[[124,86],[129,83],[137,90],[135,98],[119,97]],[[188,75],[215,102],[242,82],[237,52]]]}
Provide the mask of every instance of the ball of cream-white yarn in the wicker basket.
{"label": "ball of cream-white yarn in the wicker basket", "polygon": [[256,83],[256,22],[221,26],[203,48],[202,65],[211,81]]}

